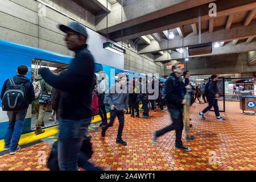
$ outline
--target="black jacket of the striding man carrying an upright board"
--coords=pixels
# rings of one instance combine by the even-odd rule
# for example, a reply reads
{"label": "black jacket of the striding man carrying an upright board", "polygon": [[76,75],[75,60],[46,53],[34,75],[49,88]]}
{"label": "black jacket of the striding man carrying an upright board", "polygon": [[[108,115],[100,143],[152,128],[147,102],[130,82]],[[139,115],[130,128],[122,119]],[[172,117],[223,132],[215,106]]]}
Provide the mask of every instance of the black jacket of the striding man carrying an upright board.
{"label": "black jacket of the striding man carrying an upright board", "polygon": [[[175,78],[175,81],[171,76]],[[182,92],[185,92],[184,83],[175,75],[175,73],[171,73],[166,81],[166,100],[168,109],[183,109],[181,103],[184,99],[184,95]]]}

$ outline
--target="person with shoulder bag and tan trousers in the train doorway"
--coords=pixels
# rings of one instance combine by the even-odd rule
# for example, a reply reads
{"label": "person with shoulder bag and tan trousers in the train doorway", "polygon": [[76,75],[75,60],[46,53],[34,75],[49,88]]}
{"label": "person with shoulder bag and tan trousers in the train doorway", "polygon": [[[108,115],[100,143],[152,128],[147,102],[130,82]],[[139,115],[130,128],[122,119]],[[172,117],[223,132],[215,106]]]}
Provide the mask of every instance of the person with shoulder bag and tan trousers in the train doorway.
{"label": "person with shoulder bag and tan trousers in the train doorway", "polygon": [[36,115],[38,117],[38,121],[36,122],[36,130],[35,134],[39,135],[44,133],[44,130],[41,129],[44,121],[44,114],[46,114],[46,105],[51,104],[51,96],[48,95],[48,92],[51,92],[51,86],[49,86],[40,75],[40,69],[38,74],[35,77],[35,82],[40,85],[42,88],[42,92],[39,94],[39,97],[35,99],[35,110]]}

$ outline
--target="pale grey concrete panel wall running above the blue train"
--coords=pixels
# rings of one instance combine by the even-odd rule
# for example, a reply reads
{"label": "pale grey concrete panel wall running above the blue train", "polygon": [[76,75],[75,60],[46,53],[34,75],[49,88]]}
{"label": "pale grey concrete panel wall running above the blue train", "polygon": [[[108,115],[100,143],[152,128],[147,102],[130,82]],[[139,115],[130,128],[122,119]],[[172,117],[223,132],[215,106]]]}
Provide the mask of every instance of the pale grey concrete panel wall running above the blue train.
{"label": "pale grey concrete panel wall running above the blue train", "polygon": [[[66,0],[42,1],[91,30],[96,30],[95,16],[75,2]],[[38,16],[38,13],[40,16]],[[68,24],[73,21],[68,16],[35,0],[1,0],[0,39],[73,56],[73,52],[65,47],[64,33],[57,28],[58,24]],[[150,55],[141,56],[138,55],[137,51],[131,50],[133,48],[127,48],[125,60],[121,60],[125,62],[124,69],[163,75],[162,63],[155,64],[152,60],[154,57],[150,57]]]}

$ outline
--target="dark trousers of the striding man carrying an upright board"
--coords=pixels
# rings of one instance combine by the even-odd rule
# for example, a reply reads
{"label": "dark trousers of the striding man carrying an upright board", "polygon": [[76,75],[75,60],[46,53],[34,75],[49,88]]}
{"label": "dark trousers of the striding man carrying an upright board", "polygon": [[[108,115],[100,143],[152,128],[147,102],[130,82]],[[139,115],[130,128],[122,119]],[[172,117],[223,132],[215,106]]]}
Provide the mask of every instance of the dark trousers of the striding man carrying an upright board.
{"label": "dark trousers of the striding man carrying an upright board", "polygon": [[182,110],[177,109],[168,109],[171,118],[172,118],[172,124],[163,128],[162,130],[156,131],[156,137],[160,137],[163,134],[166,134],[168,131],[175,130],[176,131],[176,139],[175,139],[175,146],[181,147],[182,146],[182,130],[183,130],[183,113]]}

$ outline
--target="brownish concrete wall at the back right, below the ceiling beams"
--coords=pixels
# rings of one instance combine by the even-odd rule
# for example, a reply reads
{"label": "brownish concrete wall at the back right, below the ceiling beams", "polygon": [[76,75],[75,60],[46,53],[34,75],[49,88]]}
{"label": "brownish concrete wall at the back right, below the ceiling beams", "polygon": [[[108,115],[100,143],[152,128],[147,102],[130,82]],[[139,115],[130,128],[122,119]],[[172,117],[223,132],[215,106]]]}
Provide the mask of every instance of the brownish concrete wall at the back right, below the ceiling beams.
{"label": "brownish concrete wall at the back right, below the ceiling beams", "polygon": [[[166,69],[166,65],[168,64],[171,63],[164,64],[164,76],[170,75],[172,72],[171,69]],[[190,59],[184,70],[188,70],[192,75],[255,72],[256,64],[247,64],[247,53],[235,53],[231,55]]]}

